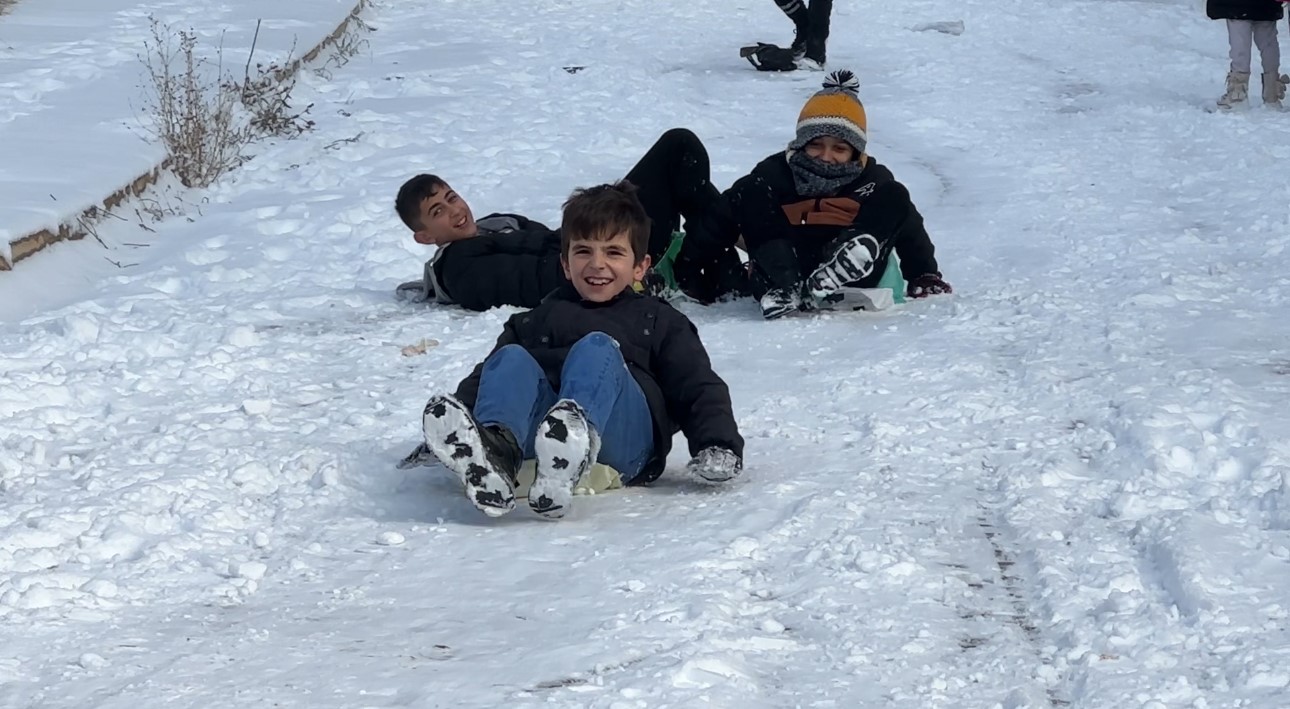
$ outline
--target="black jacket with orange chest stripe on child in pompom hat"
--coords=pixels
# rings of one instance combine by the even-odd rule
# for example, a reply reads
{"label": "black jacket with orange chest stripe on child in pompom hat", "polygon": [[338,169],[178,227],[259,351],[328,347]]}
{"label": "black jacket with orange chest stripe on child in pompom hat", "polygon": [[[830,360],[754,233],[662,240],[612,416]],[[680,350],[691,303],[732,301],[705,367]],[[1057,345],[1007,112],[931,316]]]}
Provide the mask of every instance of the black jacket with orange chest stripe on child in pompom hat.
{"label": "black jacket with orange chest stripe on child in pompom hat", "polygon": [[799,195],[783,152],[759,162],[725,192],[728,217],[762,287],[795,287],[845,229],[872,235],[880,245],[873,272],[854,285],[877,285],[891,251],[900,257],[907,281],[939,272],[935,246],[909,191],[873,157],[864,160],[859,177],[832,197]]}

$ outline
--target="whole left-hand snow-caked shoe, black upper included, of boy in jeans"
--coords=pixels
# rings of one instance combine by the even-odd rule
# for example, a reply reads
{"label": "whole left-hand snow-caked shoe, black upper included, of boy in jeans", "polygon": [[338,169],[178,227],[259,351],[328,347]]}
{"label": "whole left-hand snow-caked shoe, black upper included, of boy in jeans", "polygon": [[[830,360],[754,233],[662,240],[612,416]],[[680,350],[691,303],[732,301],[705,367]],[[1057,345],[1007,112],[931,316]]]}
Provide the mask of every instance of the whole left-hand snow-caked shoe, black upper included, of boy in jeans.
{"label": "whole left-hand snow-caked shoe, black upper included, of boy in jeans", "polygon": [[457,473],[466,498],[489,517],[515,509],[515,486],[524,454],[515,437],[501,428],[480,427],[466,405],[436,396],[422,416],[426,447]]}

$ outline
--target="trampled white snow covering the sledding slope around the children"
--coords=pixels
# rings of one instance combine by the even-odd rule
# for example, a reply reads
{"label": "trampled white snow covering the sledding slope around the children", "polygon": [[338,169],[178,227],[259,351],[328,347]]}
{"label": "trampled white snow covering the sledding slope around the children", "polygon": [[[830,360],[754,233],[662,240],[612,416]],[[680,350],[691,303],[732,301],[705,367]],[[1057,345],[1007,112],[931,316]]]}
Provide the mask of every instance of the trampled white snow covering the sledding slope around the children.
{"label": "trampled white snow covering the sledding slope around the children", "polygon": [[1204,110],[1200,3],[838,3],[956,294],[686,307],[746,476],[560,523],[395,469],[511,312],[392,299],[395,191],[553,223],[675,125],[729,184],[820,76],[769,0],[370,17],[200,217],[0,275],[0,706],[1286,705],[1290,117]]}

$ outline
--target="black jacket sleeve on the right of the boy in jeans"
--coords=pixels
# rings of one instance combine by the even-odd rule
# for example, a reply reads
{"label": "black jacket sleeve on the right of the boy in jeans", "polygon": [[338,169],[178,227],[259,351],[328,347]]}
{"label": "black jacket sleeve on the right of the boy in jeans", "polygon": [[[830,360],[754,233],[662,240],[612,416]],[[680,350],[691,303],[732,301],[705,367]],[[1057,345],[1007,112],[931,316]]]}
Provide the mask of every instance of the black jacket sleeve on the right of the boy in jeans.
{"label": "black jacket sleeve on the right of the boy in jeans", "polygon": [[712,371],[708,352],[688,317],[664,306],[659,313],[663,336],[654,353],[654,376],[675,420],[690,445],[690,455],[721,446],[743,456],[743,437],[734,420],[730,388]]}

